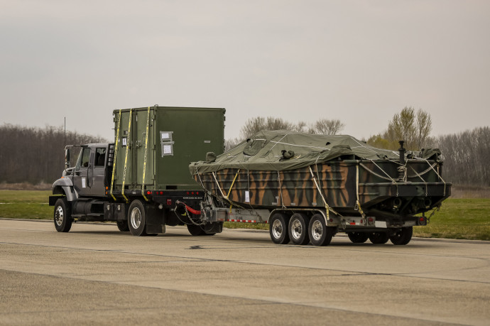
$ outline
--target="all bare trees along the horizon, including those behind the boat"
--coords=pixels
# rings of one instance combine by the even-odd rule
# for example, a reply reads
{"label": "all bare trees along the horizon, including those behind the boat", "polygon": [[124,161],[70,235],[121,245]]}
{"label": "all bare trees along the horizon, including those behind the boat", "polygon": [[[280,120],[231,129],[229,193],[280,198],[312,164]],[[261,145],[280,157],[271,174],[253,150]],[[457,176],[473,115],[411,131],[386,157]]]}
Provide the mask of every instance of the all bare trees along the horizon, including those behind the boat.
{"label": "all bare trees along the horizon, including those behind the boat", "polygon": [[[229,149],[261,130],[307,132],[310,134],[339,134],[344,124],[336,119],[320,119],[313,124],[303,121],[291,123],[282,118],[254,117],[247,120],[240,138],[227,139]],[[397,150],[398,141],[405,148],[419,151],[422,148],[440,148],[443,178],[457,185],[490,187],[490,127],[476,128],[431,137],[432,119],[428,112],[405,107],[389,121],[385,131],[361,139],[371,146]],[[51,183],[60,178],[64,168],[65,133],[62,127],[46,126],[44,129],[4,124],[0,126],[0,182]],[[67,131],[66,144],[105,142],[101,137]],[[76,159],[76,153],[73,153]]]}

